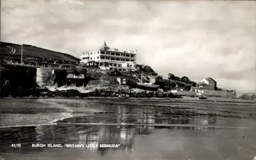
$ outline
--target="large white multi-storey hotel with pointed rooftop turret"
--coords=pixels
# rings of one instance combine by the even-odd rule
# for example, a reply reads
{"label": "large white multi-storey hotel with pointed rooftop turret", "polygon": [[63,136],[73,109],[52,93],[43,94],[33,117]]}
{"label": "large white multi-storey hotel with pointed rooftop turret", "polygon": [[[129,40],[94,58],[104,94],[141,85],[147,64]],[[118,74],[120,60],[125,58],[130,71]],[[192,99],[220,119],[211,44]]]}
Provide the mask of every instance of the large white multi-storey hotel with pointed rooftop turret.
{"label": "large white multi-storey hotel with pointed rooftop turret", "polygon": [[127,71],[135,69],[137,50],[118,51],[110,49],[106,42],[95,51],[82,53],[81,63],[99,62],[101,69],[117,69],[118,71]]}

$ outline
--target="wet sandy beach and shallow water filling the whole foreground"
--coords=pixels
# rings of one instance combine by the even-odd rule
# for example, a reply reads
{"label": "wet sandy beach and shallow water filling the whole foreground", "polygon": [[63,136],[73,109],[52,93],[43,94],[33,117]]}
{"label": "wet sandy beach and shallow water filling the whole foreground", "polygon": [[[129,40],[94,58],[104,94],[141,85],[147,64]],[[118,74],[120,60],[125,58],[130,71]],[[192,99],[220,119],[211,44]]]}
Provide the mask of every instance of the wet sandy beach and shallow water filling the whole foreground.
{"label": "wet sandy beach and shallow water filling the whole foreground", "polygon": [[1,159],[245,160],[256,104],[196,99],[0,99]]}

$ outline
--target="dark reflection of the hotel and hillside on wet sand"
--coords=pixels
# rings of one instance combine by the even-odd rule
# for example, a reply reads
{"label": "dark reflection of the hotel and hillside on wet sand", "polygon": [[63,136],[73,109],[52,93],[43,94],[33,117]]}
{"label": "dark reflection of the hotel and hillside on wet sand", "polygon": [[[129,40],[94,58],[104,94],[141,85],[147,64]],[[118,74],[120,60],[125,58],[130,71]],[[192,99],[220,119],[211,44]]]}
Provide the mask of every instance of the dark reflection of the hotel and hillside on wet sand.
{"label": "dark reflection of the hotel and hillside on wet sand", "polygon": [[[172,113],[156,114],[153,107],[138,109],[134,106],[117,106],[115,111],[111,113],[71,117],[59,121],[58,125],[6,128],[1,132],[1,141],[3,152],[10,149],[20,153],[51,150],[51,148],[32,148],[32,143],[87,144],[91,147],[80,149],[98,151],[102,155],[117,150],[133,152],[136,135],[151,134],[155,128],[170,128],[169,126],[158,126],[158,124],[189,124],[195,120],[203,124],[215,124],[217,118],[216,116],[189,118],[182,115],[172,115]],[[71,124],[66,125],[64,123]],[[78,123],[112,123],[116,125],[79,125]],[[139,125],[122,125],[123,123]],[[156,124],[156,126],[148,126],[150,124]],[[22,147],[17,150],[17,148],[10,147],[12,143],[21,143]],[[120,144],[120,146],[105,148],[100,147],[100,144]]]}

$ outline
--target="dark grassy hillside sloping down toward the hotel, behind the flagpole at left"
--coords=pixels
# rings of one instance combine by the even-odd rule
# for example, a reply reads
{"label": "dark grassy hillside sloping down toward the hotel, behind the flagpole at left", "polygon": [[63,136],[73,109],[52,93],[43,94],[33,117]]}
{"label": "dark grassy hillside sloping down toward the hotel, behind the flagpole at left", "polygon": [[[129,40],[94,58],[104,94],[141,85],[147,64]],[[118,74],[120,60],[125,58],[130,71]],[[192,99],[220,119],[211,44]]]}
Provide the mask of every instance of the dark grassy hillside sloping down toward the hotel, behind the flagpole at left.
{"label": "dark grassy hillside sloping down toward the hotel, behind the flagpole at left", "polygon": [[[1,42],[0,43],[0,57],[20,57],[22,52],[22,45]],[[67,62],[79,62],[79,58],[71,56],[66,53],[55,52],[47,49],[42,49],[35,47],[33,45],[23,44],[23,56],[38,58],[38,59],[52,59],[58,61],[67,61]]]}

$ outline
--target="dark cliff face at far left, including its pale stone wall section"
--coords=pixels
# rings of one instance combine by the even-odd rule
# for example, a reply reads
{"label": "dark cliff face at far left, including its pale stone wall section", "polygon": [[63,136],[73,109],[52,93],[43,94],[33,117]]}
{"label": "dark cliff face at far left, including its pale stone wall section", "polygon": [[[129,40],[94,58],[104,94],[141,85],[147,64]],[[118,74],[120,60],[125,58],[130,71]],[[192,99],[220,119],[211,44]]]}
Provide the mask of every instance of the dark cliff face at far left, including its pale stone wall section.
{"label": "dark cliff face at far left, including its pale stone wall section", "polygon": [[46,85],[66,85],[67,71],[3,65],[0,74],[1,97],[39,97],[40,92],[48,91]]}

